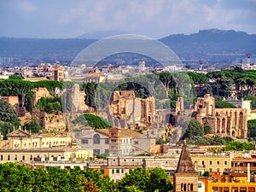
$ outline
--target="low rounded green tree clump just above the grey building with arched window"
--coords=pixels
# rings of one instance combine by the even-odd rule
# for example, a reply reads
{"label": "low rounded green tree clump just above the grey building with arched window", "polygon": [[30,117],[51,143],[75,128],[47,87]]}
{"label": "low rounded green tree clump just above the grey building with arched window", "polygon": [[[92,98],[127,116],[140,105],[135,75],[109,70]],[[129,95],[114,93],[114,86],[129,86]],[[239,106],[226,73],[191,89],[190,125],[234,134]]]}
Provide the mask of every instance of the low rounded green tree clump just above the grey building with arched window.
{"label": "low rounded green tree clump just above the grey building with arched window", "polygon": [[111,127],[109,122],[93,114],[82,114],[74,119],[72,123],[91,126],[95,129],[108,129]]}

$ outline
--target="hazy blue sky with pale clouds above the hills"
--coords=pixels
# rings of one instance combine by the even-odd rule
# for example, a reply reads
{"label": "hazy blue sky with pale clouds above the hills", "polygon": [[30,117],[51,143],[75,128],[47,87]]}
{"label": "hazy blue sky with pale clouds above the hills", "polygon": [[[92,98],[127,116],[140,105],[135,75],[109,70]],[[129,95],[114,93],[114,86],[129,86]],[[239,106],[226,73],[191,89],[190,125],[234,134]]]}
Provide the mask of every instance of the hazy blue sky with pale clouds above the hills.
{"label": "hazy blue sky with pale clouds above the hills", "polygon": [[256,0],[0,0],[0,37],[119,30],[162,38],[211,28],[256,34]]}

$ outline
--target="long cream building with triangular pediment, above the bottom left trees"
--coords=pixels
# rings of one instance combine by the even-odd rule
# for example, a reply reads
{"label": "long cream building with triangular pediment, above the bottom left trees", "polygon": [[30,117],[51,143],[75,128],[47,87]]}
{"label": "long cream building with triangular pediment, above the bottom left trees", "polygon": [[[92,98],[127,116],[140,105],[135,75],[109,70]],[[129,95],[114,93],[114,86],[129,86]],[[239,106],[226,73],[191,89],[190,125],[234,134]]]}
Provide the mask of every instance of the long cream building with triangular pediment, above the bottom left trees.
{"label": "long cream building with triangular pediment, above the bottom left trees", "polygon": [[92,150],[80,148],[73,137],[62,134],[35,134],[16,130],[0,141],[0,162],[88,160]]}

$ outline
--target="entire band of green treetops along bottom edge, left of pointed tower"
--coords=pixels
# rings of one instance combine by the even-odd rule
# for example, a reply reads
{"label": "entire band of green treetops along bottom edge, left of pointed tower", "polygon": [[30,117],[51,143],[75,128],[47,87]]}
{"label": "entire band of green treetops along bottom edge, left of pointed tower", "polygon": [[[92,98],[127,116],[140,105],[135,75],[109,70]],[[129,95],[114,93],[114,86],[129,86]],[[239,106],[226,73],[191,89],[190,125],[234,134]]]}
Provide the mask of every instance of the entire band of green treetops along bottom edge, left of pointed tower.
{"label": "entire band of green treetops along bottom edge, left of pointed tower", "polygon": [[55,166],[30,169],[14,163],[0,164],[0,190],[22,192],[113,192],[113,191],[172,191],[172,183],[160,168],[145,170],[137,168],[125,174],[118,183],[101,172],[81,170],[79,166],[67,170]]}

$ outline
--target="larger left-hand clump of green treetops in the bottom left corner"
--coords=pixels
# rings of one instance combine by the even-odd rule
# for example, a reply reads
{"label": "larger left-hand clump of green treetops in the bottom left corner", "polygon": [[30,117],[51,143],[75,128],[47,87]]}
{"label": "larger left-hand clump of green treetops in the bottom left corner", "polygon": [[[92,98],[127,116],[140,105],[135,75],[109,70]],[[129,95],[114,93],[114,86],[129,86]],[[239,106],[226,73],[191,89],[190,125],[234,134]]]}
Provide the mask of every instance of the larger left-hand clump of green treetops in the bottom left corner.
{"label": "larger left-hand clump of green treetops in the bottom left corner", "polygon": [[37,168],[31,170],[24,165],[13,163],[0,164],[1,191],[113,191],[113,181],[108,176],[101,176],[100,172],[80,170],[75,167],[68,171],[57,167]]}

